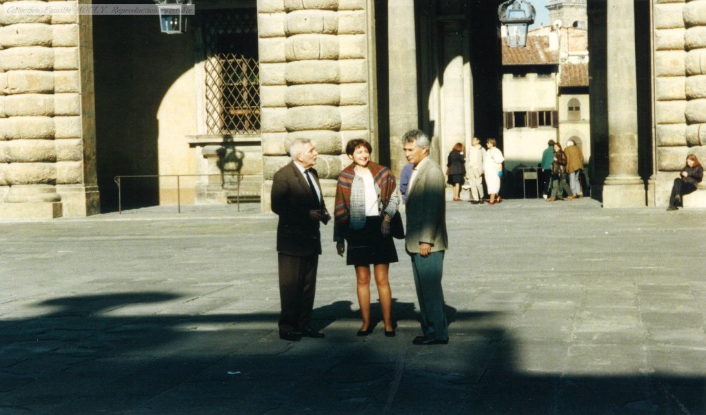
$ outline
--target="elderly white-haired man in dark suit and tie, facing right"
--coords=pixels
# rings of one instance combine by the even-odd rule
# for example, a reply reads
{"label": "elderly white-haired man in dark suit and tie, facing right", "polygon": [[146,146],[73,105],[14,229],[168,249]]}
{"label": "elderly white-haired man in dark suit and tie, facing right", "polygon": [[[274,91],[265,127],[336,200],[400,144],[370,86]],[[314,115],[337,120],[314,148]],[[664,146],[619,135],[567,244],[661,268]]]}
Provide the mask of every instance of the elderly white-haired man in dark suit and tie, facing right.
{"label": "elderly white-haired man in dark suit and tie, facing right", "polygon": [[280,339],[324,337],[309,322],[316,294],[316,269],[321,255],[319,223],[330,215],[323,203],[316,170],[316,148],[310,140],[294,140],[289,148],[292,162],[275,173],[272,210],[277,224],[277,253],[280,270]]}

